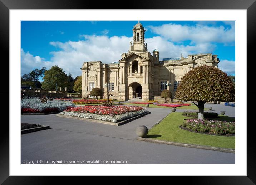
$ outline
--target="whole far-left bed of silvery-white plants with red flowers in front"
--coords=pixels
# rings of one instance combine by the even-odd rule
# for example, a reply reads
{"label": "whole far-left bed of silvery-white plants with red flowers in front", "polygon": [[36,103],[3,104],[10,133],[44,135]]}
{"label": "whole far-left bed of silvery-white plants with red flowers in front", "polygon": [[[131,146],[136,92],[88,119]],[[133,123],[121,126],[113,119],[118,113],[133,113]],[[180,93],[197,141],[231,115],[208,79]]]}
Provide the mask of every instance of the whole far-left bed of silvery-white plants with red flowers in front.
{"label": "whole far-left bed of silvery-white plants with red flowers in front", "polygon": [[69,109],[75,107],[72,102],[65,102],[53,99],[47,102],[41,102],[41,99],[37,97],[33,98],[23,98],[21,99],[21,113],[49,113],[49,112],[59,112],[64,111],[65,109]]}

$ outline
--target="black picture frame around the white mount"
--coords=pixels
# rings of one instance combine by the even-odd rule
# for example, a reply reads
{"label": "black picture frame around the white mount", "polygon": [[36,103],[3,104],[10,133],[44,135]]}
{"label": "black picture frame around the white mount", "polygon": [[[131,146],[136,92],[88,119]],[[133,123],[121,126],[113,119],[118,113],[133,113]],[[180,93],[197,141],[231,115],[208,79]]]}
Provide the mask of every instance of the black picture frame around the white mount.
{"label": "black picture frame around the white mount", "polygon": [[[113,5],[122,5],[121,1],[77,1],[77,0],[0,0],[0,46],[1,53],[5,60],[2,61],[2,68],[9,69],[9,10],[10,9],[115,9]],[[124,6],[120,6],[124,7]],[[120,9],[116,7],[116,9]],[[122,9],[121,8],[121,9]],[[167,1],[154,0],[148,1],[131,1],[125,4],[126,9],[246,9],[247,10],[247,61],[250,61],[250,66],[247,65],[247,84],[253,83],[252,71],[255,69],[254,48],[256,41],[256,2],[255,0],[182,0],[182,1]],[[245,61],[246,62],[246,57]],[[9,69],[10,70],[10,69]],[[7,71],[7,70],[5,70]],[[7,74],[5,74],[6,78]],[[246,78],[246,77],[245,77]],[[4,104],[9,105],[9,81],[0,90],[1,97],[4,98]],[[245,88],[247,87],[245,84]],[[4,88],[3,88],[4,87]],[[255,96],[254,88],[247,88],[247,97]],[[9,98],[6,98],[9,97]],[[246,97],[243,98],[247,102]],[[253,101],[253,99],[252,99]],[[246,108],[246,107],[245,107]],[[3,109],[3,108],[2,108]],[[4,110],[6,111],[6,107]],[[9,109],[9,106],[8,106]],[[249,108],[247,103],[247,118],[253,114],[253,109]],[[250,119],[248,119],[250,120]],[[248,122],[248,121],[247,121]],[[5,123],[5,124],[4,124]],[[246,124],[246,123],[245,123]],[[179,177],[182,179],[182,184],[187,181],[189,184],[255,184],[256,183],[256,158],[255,154],[255,138],[254,122],[247,124],[247,176],[235,177]],[[0,140],[0,183],[3,184],[51,184],[52,177],[14,177],[9,176],[9,126],[6,122],[2,122],[2,132]],[[3,130],[6,130],[3,132]],[[177,177],[178,178],[178,177]],[[58,178],[58,180],[60,180]],[[151,181],[151,178],[147,180]],[[147,180],[143,180],[145,184]],[[66,179],[65,182],[67,183]],[[123,180],[122,184],[131,184],[128,178]],[[138,181],[137,181],[138,183]]]}

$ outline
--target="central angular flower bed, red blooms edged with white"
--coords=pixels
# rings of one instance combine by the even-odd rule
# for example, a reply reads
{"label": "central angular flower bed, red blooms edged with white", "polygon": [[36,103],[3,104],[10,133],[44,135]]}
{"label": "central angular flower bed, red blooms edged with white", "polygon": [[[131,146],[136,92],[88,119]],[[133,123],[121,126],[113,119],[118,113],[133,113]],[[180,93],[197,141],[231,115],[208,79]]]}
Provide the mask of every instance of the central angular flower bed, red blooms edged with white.
{"label": "central angular flower bed, red blooms edged with white", "polygon": [[146,112],[149,111],[137,106],[86,106],[70,108],[60,114],[116,123]]}

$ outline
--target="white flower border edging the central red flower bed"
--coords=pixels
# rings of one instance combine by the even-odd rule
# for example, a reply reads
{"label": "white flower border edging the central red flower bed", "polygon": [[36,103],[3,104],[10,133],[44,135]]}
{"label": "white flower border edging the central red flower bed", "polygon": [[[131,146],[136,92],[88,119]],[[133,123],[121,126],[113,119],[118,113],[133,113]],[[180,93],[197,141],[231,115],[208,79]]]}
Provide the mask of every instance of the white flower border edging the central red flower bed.
{"label": "white flower border edging the central red flower bed", "polygon": [[98,114],[91,114],[91,113],[68,112],[68,111],[63,111],[59,114],[81,117],[81,118],[98,119],[98,120],[117,123],[117,122],[123,121],[125,119],[129,119],[129,118],[135,117],[137,115],[144,114],[146,112],[149,112],[149,111],[147,111],[147,110],[134,111],[134,112],[128,112],[125,114],[119,114],[119,115],[115,115],[115,116],[98,115]]}

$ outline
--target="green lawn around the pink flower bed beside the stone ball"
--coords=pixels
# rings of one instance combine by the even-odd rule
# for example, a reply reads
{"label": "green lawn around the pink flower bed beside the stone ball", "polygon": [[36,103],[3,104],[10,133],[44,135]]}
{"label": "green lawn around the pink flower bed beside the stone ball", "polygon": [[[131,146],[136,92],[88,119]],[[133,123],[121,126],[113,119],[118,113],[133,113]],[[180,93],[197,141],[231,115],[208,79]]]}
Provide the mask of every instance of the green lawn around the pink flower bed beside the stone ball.
{"label": "green lawn around the pink flower bed beside the stone ball", "polygon": [[[219,117],[215,118],[215,120],[235,121],[235,118],[225,115],[219,115]],[[183,120],[187,118],[191,117],[183,116],[179,112],[170,113],[161,123],[148,131],[147,137],[179,143],[235,149],[235,137],[200,134],[179,128]]]}

